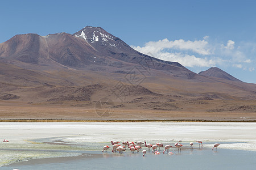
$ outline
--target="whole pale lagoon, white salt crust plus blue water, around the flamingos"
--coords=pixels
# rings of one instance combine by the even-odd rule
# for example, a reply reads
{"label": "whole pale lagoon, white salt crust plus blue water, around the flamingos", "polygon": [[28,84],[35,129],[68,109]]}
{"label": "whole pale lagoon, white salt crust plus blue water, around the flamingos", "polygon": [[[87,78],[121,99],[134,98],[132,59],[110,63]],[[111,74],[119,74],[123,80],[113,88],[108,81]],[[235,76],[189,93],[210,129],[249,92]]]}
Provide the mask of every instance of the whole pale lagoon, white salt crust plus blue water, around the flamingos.
{"label": "whole pale lagoon, white salt crust plus blue water, around the flamingos", "polygon": [[[1,169],[255,169],[256,124],[238,123],[8,123],[1,122]],[[142,141],[172,145],[178,139],[181,152],[102,154],[113,141]],[[203,149],[195,141],[201,139]],[[104,142],[105,141],[105,142]],[[106,142],[108,141],[108,142]],[[191,151],[189,142],[194,142]],[[214,143],[220,143],[217,152]],[[144,147],[145,148],[145,147]],[[230,150],[225,149],[230,148]],[[236,150],[235,150],[236,149]],[[254,151],[246,151],[254,150]],[[80,156],[78,156],[80,155]],[[65,158],[63,158],[66,156]],[[73,156],[73,157],[70,157]],[[61,157],[61,158],[60,158]],[[35,159],[48,158],[48,159]],[[25,162],[20,161],[28,160]]]}

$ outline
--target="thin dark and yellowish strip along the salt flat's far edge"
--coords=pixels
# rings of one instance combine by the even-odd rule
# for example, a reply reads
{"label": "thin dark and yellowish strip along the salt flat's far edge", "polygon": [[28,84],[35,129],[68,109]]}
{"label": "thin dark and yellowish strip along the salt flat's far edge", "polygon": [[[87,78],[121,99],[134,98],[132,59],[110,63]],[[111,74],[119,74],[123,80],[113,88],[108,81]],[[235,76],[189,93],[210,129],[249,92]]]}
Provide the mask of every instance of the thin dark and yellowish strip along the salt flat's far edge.
{"label": "thin dark and yellowish strip along the salt flat's far edge", "polygon": [[169,119],[154,119],[154,120],[134,120],[134,119],[109,119],[109,120],[66,120],[66,119],[34,119],[34,118],[24,118],[24,119],[1,119],[0,122],[256,122],[256,120],[169,120]]}

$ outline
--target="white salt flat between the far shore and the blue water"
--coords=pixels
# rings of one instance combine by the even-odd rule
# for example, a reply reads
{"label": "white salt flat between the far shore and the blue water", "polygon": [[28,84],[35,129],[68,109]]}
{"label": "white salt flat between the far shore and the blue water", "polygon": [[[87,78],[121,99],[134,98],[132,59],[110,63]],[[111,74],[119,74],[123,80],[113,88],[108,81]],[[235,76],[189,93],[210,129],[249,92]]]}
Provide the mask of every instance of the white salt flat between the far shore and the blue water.
{"label": "white salt flat between the far shore and the blue water", "polygon": [[[27,158],[40,159],[54,155],[59,158],[67,154],[76,155],[91,149],[100,151],[102,146],[109,145],[109,141],[144,140],[151,144],[162,142],[164,145],[173,145],[174,142],[181,139],[185,144],[184,146],[189,146],[189,142],[196,144],[197,140],[201,140],[205,141],[204,146],[207,148],[212,148],[213,143],[220,143],[220,148],[256,151],[255,122],[192,122],[191,120],[187,122],[180,120],[26,121],[0,122],[2,138],[10,141],[0,143],[2,164],[8,163],[10,160],[21,160],[21,158],[26,161]],[[53,143],[56,145],[52,145]]]}

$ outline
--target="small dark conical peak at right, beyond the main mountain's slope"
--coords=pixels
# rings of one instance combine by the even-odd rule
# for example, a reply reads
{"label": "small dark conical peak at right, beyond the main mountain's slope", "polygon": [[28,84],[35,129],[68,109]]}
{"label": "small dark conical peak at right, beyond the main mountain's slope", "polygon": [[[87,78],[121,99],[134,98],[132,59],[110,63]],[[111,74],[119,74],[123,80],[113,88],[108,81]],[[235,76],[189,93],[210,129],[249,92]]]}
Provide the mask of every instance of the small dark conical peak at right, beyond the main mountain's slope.
{"label": "small dark conical peak at right, beyond the main mountain's slope", "polygon": [[211,67],[210,69],[206,71],[201,71],[199,75],[204,75],[204,76],[213,76],[217,78],[222,78],[226,80],[232,80],[236,82],[242,82],[241,80],[234,78],[232,75],[226,73],[225,71],[217,68],[217,67]]}

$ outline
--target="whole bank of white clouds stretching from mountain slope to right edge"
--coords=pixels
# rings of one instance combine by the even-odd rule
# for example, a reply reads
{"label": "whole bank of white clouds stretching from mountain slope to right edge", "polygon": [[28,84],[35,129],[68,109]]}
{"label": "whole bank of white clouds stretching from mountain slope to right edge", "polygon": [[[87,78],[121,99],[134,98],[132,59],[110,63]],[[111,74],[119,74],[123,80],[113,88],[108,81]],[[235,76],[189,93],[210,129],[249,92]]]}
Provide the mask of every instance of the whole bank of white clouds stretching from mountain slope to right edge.
{"label": "whole bank of white clouds stretching from mountain slope to right edge", "polygon": [[[144,46],[133,46],[132,48],[149,56],[175,61],[186,67],[213,67],[230,65],[231,67],[246,70],[254,70],[251,67],[253,59],[247,57],[248,50],[255,48],[246,43],[236,45],[235,41],[228,40],[226,43],[211,40],[209,36],[201,40],[173,40],[163,39],[159,41],[146,42]],[[253,47],[252,47],[253,46]]]}

